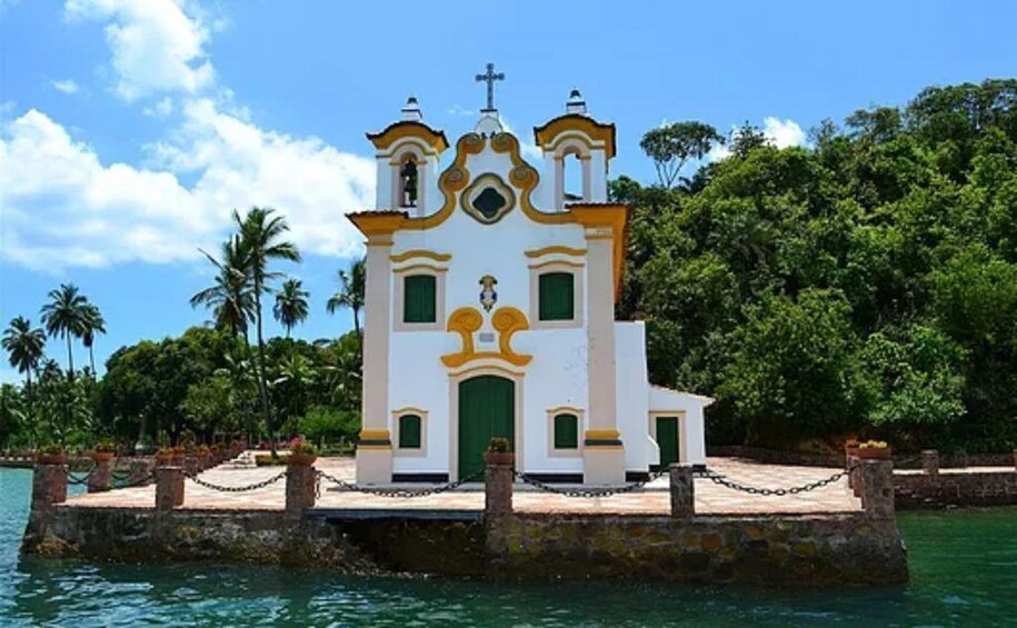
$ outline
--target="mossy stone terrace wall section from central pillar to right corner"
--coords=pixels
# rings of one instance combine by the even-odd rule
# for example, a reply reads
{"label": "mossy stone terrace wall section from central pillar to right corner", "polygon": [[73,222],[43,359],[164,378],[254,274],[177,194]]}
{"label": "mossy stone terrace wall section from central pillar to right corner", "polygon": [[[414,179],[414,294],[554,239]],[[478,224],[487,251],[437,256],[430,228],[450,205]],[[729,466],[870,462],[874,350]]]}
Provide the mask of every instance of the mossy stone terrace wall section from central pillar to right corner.
{"label": "mossy stone terrace wall section from central pillar to right corner", "polygon": [[893,521],[865,516],[526,515],[488,528],[489,575],[754,585],[878,585],[908,579]]}

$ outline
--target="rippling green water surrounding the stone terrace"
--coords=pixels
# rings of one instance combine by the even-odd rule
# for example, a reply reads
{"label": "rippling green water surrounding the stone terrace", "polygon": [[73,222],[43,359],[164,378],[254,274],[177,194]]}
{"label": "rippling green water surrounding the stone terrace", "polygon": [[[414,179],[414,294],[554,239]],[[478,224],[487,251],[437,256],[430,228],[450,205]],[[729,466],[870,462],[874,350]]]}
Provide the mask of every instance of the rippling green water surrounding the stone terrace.
{"label": "rippling green water surrounding the stone terrace", "polygon": [[829,591],[361,579],[248,565],[19,557],[30,471],[0,469],[0,625],[1013,626],[1017,509],[906,514],[913,581]]}

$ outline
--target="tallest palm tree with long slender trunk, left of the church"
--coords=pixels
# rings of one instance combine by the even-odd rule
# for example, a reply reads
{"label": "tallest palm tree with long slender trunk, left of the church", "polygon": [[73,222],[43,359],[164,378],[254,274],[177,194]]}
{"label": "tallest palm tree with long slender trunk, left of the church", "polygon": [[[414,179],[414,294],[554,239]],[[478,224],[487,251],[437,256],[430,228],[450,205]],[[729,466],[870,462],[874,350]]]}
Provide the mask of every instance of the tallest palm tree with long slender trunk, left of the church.
{"label": "tallest palm tree with long slender trunk, left of the church", "polygon": [[[268,262],[273,259],[300,261],[300,251],[292,242],[281,240],[283,233],[289,231],[286,219],[272,216],[273,209],[252,207],[247,216],[233,210],[233,221],[240,228],[240,249],[247,259],[248,277],[255,289],[255,321],[258,331],[258,370],[261,391],[261,412],[269,432],[273,433],[268,408],[268,377],[265,372],[265,336],[262,333],[261,295],[268,291],[266,282],[279,277],[277,272],[269,272]],[[275,452],[276,440],[272,440]]]}

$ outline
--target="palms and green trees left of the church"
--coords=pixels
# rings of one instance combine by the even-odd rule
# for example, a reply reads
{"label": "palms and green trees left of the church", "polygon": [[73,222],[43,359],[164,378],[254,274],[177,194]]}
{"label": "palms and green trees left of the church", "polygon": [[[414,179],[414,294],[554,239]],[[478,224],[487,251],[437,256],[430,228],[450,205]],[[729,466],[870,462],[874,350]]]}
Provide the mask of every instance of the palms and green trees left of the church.
{"label": "palms and green trees left of the church", "polygon": [[[13,319],[3,348],[26,379],[20,387],[0,388],[0,445],[88,447],[100,438],[163,445],[179,442],[186,432],[205,442],[235,433],[351,441],[360,426],[363,262],[353,262],[349,273],[339,271],[339,291],[326,303],[329,312],[351,309],[355,331],[337,340],[292,340],[310,295],[300,280],[269,268],[275,260],[300,259],[285,240],[286,221],[260,208],[233,218],[237,232],[220,258],[205,253],[217,270],[212,285],[191,299],[193,307],[210,310],[210,323],[180,338],[120,348],[100,380],[94,367],[73,368],[73,340],[91,357],[96,335],[106,331],[98,308],[77,287],[50,292],[41,310],[44,331]],[[273,297],[272,315],[286,338],[265,340],[265,297]],[[46,358],[47,337],[66,339],[66,372]]]}

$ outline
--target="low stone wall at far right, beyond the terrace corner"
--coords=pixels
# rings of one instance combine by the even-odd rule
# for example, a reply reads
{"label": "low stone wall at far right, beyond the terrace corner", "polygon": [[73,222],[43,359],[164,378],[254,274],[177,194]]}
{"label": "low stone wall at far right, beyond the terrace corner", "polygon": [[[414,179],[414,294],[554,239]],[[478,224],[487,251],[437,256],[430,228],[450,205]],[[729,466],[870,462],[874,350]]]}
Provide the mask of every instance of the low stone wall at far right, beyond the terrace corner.
{"label": "low stone wall at far right, beyond the terrace corner", "polygon": [[1017,505],[1017,470],[894,474],[897,508]]}

